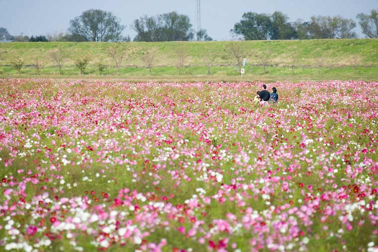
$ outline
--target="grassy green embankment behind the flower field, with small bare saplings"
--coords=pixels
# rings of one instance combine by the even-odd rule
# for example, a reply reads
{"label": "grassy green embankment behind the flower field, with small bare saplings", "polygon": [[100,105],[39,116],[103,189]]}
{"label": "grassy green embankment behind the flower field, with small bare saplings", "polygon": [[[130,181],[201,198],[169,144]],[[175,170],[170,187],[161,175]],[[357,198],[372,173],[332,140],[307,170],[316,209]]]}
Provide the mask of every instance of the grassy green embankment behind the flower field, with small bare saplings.
{"label": "grassy green embankment behind the flower field, with small bare saplings", "polygon": [[[246,74],[240,77],[235,58],[228,53],[230,43],[237,43],[245,50],[247,59]],[[377,80],[378,79],[378,39],[340,39],[340,40],[288,40],[288,41],[214,41],[214,42],[132,42],[123,61],[120,75],[116,74],[113,60],[106,54],[109,43],[71,43],[71,42],[21,42],[0,43],[3,52],[0,60],[0,78],[38,77],[34,59],[45,62],[40,77],[73,79],[122,79],[122,80],[167,80],[167,81],[304,81],[304,80]],[[62,68],[51,60],[49,52],[56,48],[67,52]],[[156,60],[152,76],[141,60],[143,52],[156,49]],[[185,50],[188,58],[182,75],[175,67],[177,51]],[[272,52],[268,73],[263,73],[259,58],[255,55],[266,50]],[[212,66],[207,75],[204,57],[210,54]],[[79,76],[75,59],[88,56],[91,61],[85,76]],[[295,58],[295,60],[293,59]],[[22,59],[24,67],[18,73],[11,61]],[[104,75],[99,76],[96,64],[107,65]],[[294,73],[292,66],[295,66]]]}

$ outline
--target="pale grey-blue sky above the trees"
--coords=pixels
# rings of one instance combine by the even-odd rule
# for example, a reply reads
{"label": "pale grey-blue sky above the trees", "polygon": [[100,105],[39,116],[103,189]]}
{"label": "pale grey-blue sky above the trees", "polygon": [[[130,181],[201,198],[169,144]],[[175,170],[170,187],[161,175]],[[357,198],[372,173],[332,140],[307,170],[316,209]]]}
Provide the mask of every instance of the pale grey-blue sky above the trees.
{"label": "pale grey-blue sky above the trees", "polygon": [[[124,35],[134,38],[130,24],[142,15],[178,11],[194,27],[195,0],[0,0],[0,27],[12,35],[47,35],[65,32],[69,21],[90,8],[111,11],[126,25]],[[309,20],[312,15],[341,15],[356,20],[360,12],[378,8],[378,0],[201,0],[202,28],[215,40],[230,40],[230,29],[244,12],[273,13]],[[360,37],[360,29],[356,30]]]}

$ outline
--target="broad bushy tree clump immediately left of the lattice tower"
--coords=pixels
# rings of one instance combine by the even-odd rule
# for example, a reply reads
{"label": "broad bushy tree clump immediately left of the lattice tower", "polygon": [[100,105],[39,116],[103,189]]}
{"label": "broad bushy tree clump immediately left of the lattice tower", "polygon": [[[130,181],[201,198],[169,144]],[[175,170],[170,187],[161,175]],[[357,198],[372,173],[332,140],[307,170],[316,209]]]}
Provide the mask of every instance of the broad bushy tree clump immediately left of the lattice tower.
{"label": "broad bushy tree clump immediately left of the lattice tower", "polygon": [[134,41],[188,41],[194,37],[189,16],[176,11],[140,17],[133,21],[132,28],[137,33]]}

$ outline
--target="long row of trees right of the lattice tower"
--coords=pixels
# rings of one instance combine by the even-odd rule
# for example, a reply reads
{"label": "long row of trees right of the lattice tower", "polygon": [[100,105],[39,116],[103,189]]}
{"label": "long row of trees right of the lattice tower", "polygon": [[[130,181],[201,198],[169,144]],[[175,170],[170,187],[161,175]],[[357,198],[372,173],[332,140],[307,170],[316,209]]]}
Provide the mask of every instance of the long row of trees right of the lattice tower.
{"label": "long row of trees right of the lattice tower", "polygon": [[[357,15],[362,33],[368,38],[378,37],[378,9]],[[342,16],[311,16],[309,21],[289,22],[281,11],[273,14],[246,12],[231,32],[245,40],[277,39],[338,39],[357,38],[357,23]]]}

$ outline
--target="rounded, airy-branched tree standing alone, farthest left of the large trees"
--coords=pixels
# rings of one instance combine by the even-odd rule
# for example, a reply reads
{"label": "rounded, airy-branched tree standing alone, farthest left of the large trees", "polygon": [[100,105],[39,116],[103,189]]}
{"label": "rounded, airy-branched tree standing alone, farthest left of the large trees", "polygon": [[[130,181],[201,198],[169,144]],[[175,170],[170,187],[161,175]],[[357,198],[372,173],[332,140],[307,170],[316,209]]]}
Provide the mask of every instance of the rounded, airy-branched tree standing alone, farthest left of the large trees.
{"label": "rounded, airy-branched tree standing alone, farthest left of the large trees", "polygon": [[71,34],[85,37],[88,41],[119,41],[125,26],[111,12],[89,9],[70,21]]}

